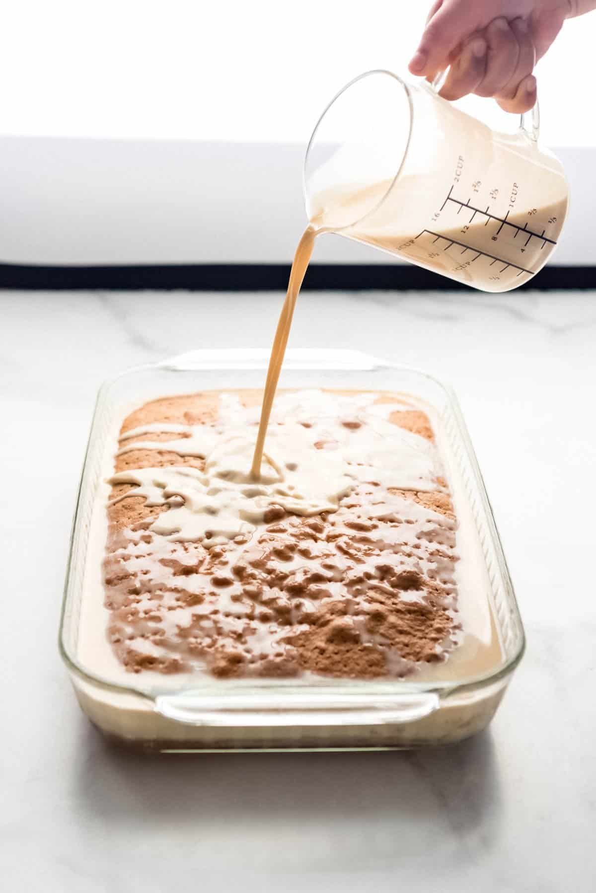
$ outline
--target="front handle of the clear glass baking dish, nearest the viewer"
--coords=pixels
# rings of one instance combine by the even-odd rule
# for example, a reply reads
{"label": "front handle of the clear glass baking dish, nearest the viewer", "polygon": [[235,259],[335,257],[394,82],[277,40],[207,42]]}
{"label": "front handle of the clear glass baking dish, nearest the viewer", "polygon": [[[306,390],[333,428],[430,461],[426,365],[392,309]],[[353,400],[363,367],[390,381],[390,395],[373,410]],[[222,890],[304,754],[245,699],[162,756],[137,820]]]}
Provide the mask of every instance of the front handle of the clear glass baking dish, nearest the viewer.
{"label": "front handle of the clear glass baking dish, nearest the viewer", "polygon": [[439,696],[433,692],[381,696],[259,692],[214,696],[189,691],[155,697],[158,713],[176,722],[252,728],[414,722],[432,714],[439,705]]}

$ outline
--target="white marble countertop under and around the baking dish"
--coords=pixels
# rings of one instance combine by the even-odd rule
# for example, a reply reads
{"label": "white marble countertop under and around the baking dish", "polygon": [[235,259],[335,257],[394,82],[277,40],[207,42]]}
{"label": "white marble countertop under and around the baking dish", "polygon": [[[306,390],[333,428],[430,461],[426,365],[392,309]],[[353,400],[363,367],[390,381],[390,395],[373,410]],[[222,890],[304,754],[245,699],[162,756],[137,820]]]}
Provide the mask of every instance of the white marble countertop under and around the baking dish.
{"label": "white marble countertop under and around the baking dish", "polygon": [[399,358],[457,389],[528,637],[491,730],[434,752],[145,758],[80,714],[56,630],[97,387],[195,347],[266,346],[280,302],[0,293],[4,889],[592,891],[594,294],[298,305],[293,346]]}

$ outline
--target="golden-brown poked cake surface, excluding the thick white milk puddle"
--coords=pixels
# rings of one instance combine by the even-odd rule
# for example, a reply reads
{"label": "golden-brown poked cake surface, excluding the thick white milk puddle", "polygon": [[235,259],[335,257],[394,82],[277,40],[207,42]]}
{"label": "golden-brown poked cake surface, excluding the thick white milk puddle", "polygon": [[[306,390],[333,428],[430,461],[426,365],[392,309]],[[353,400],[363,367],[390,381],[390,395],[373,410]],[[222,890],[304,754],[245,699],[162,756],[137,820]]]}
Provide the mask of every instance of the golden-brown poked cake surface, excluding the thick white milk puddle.
{"label": "golden-brown poked cake surface, excluding the thick white milk puddle", "polygon": [[[148,505],[147,491],[135,495],[139,484],[113,482],[105,606],[114,653],[130,672],[399,677],[444,660],[457,644],[456,525],[426,414],[403,396],[327,392],[325,405],[335,400],[338,415],[321,421],[306,397],[303,407],[294,400],[284,411],[283,393],[272,423],[291,420],[312,438],[311,450],[326,458],[343,451],[345,471],[357,472],[335,510],[305,515],[268,505],[254,530],[212,546],[210,531],[200,541],[153,529],[191,498],[183,488]],[[260,395],[229,395],[250,432]],[[141,430],[121,440],[127,451],[114,472],[190,469],[203,486],[206,458],[185,455],[183,442],[194,443],[202,429],[225,431],[221,399],[217,392],[164,397],[130,413],[121,437]],[[368,444],[366,426],[376,450],[390,449],[394,434],[404,455],[428,454],[433,471],[424,486],[399,486],[399,470],[398,486],[390,486],[386,476],[375,480],[374,462],[357,462],[350,444]],[[172,441],[178,451],[168,449]]]}

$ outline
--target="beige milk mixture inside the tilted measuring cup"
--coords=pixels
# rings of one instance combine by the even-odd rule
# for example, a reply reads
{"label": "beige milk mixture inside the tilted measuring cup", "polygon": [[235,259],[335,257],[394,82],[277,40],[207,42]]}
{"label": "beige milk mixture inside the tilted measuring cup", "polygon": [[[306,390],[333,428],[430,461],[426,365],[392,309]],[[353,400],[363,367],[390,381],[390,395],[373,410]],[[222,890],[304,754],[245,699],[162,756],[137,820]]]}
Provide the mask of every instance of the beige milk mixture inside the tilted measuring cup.
{"label": "beige milk mixture inside the tilted measuring cup", "polygon": [[[437,211],[429,212],[426,221],[417,221],[420,229],[414,230],[407,225],[410,209],[421,204],[426,188],[424,175],[415,174],[405,177],[394,194],[389,193],[388,181],[327,190],[313,199],[312,222],[324,228],[332,221],[333,229],[348,238],[404,255],[475,288],[506,291],[531,279],[544,252],[550,254],[557,244],[567,195],[561,196],[558,188],[549,195],[549,185],[547,180],[542,201],[535,207],[517,204],[523,190],[516,188],[515,180],[508,196],[499,196],[499,188],[483,189],[478,181],[471,188],[452,183]],[[375,200],[381,204],[374,214],[350,226]]]}

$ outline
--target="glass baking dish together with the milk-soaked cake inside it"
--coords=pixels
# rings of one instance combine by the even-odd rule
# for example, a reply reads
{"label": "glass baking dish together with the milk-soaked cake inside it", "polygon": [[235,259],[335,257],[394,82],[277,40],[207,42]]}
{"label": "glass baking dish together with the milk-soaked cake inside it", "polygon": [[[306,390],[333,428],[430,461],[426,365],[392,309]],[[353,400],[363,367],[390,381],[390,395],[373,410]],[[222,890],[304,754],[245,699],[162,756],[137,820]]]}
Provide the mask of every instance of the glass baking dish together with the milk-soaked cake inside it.
{"label": "glass baking dish together with the milk-soaked cake inside it", "polygon": [[101,389],[60,633],[80,706],[165,753],[484,729],[524,630],[457,400],[290,351],[253,480],[267,358],[197,351]]}

